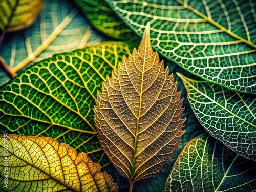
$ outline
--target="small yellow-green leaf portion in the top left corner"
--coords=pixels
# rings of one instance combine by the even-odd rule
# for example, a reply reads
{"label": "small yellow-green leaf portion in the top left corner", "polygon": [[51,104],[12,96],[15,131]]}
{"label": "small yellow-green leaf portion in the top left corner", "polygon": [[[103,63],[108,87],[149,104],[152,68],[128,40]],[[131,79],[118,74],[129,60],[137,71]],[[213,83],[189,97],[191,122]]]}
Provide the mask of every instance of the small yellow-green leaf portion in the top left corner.
{"label": "small yellow-green leaf portion in the top left corner", "polygon": [[1,1],[0,29],[17,31],[30,26],[43,6],[44,0]]}

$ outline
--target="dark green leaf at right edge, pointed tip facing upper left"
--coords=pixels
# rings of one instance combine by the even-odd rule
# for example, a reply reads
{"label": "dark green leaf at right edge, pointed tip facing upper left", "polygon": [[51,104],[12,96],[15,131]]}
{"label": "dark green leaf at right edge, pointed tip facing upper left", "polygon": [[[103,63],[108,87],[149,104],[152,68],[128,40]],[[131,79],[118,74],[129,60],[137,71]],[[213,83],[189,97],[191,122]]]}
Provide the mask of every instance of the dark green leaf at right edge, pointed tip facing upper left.
{"label": "dark green leaf at right edge, pointed tip facing upper left", "polygon": [[178,74],[203,127],[228,148],[256,160],[256,97]]}

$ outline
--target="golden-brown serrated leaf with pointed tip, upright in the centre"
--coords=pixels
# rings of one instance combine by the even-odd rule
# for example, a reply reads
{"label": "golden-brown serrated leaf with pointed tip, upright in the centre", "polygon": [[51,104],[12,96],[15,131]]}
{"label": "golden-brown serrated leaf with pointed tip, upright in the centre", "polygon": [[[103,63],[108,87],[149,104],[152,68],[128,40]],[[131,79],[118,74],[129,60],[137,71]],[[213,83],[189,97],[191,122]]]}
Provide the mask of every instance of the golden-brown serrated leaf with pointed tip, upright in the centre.
{"label": "golden-brown serrated leaf with pointed tip, upright in the centre", "polygon": [[95,106],[101,146],[133,186],[170,162],[185,119],[177,82],[150,44],[150,26],[133,55],[102,86]]}

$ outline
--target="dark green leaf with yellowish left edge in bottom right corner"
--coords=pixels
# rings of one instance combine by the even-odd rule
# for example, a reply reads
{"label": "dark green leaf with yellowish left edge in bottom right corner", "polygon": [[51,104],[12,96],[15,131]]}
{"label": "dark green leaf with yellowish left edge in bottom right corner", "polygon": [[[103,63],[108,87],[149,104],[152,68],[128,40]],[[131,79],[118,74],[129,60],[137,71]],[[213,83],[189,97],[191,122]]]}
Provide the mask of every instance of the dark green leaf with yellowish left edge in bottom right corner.
{"label": "dark green leaf with yellowish left edge in bottom right corner", "polygon": [[256,162],[208,134],[191,140],[176,160],[164,191],[255,191]]}

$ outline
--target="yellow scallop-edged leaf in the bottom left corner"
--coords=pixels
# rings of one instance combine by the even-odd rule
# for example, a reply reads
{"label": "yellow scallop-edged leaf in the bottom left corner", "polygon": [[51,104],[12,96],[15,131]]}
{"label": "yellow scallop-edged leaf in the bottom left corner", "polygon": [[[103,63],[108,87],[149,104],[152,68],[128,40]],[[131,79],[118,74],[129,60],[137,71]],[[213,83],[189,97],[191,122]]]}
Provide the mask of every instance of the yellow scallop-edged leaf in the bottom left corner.
{"label": "yellow scallop-edged leaf in the bottom left corner", "polygon": [[[0,135],[1,191],[117,191],[100,165],[49,137]],[[5,173],[5,167],[8,167]]]}

